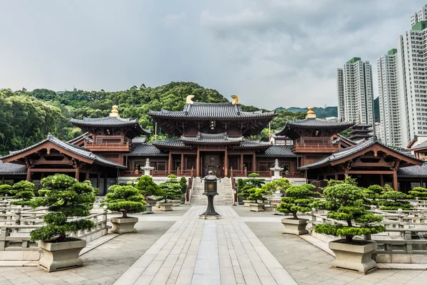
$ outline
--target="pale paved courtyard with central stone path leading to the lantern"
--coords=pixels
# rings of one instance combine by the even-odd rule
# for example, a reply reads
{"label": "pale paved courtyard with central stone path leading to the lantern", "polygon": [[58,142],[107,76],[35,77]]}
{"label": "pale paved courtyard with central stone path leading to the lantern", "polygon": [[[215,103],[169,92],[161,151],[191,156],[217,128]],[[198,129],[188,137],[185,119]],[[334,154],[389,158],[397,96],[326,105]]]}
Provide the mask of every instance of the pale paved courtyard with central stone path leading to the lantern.
{"label": "pale paved courtyard with central stone path leading to the lantern", "polygon": [[53,273],[0,267],[0,284],[426,284],[421,270],[364,276],[331,269],[329,254],[281,234],[280,216],[217,206],[223,219],[201,220],[205,207],[135,215],[138,232],[83,254],[83,267]]}

